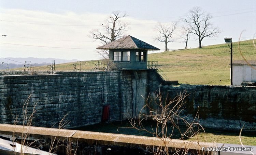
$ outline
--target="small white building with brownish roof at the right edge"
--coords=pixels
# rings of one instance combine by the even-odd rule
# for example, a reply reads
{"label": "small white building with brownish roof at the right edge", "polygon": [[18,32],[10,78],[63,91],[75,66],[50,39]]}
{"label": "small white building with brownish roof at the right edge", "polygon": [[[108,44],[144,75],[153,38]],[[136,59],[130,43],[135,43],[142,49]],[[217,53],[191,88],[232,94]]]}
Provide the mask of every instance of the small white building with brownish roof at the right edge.
{"label": "small white building with brownish roof at the right edge", "polygon": [[233,61],[233,85],[241,86],[242,82],[256,82],[256,61]]}

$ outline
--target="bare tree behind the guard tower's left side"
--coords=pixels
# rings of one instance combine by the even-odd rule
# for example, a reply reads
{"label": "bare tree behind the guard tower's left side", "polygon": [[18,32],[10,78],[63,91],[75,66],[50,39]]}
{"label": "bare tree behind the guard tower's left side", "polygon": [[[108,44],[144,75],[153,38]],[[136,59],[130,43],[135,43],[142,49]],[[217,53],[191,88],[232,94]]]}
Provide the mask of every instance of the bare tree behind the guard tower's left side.
{"label": "bare tree behind the guard tower's left side", "polygon": [[[101,29],[93,29],[89,33],[89,37],[94,41],[100,40],[103,44],[108,44],[116,39],[125,36],[125,32],[128,30],[128,23],[122,22],[120,18],[127,17],[127,13],[120,13],[120,11],[114,11],[106,20],[101,23]],[[109,58],[109,52],[104,50],[99,52],[103,58]]]}

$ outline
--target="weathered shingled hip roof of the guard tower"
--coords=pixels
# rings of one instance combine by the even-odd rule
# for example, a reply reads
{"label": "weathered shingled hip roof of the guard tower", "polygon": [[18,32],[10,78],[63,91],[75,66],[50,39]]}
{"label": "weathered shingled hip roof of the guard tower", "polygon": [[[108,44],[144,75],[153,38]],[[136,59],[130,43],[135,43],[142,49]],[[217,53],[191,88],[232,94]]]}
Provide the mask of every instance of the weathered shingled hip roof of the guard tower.
{"label": "weathered shingled hip roof of the guard tower", "polygon": [[147,44],[137,38],[130,35],[112,41],[106,45],[100,46],[97,49],[109,50],[109,49],[141,49],[141,50],[160,50],[152,45]]}

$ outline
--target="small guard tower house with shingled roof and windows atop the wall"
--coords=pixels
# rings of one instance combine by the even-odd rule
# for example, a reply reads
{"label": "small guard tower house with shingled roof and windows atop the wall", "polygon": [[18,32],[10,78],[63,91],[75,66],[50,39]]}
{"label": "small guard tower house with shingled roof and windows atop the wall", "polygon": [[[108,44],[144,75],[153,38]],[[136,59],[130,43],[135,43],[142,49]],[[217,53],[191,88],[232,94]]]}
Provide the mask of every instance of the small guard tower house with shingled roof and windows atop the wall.
{"label": "small guard tower house with shingled roof and windows atop the wall", "polygon": [[147,61],[147,51],[160,49],[130,35],[97,49],[109,50],[109,64],[113,64],[117,70],[157,69],[157,62]]}

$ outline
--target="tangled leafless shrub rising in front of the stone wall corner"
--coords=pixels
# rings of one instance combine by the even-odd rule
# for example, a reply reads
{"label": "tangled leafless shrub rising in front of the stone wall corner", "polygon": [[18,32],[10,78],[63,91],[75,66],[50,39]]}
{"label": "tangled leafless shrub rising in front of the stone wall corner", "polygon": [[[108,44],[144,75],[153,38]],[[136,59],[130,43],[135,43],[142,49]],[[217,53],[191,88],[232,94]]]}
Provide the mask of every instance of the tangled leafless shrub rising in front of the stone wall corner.
{"label": "tangled leafless shrub rising in front of the stone wall corner", "polygon": [[[190,154],[189,147],[186,147],[185,140],[194,141],[199,145],[197,135],[204,132],[203,127],[198,123],[199,115],[194,119],[188,119],[184,114],[186,91],[177,94],[174,99],[164,99],[160,93],[155,98],[148,96],[146,104],[141,109],[138,118],[130,118],[132,128],[145,131],[162,141],[162,145],[147,145],[147,150],[154,155],[169,154]],[[144,112],[148,111],[148,112]],[[151,127],[146,127],[145,121],[151,121]],[[170,148],[171,139],[179,137],[183,140],[185,148]],[[204,154],[204,153],[200,153]]]}

